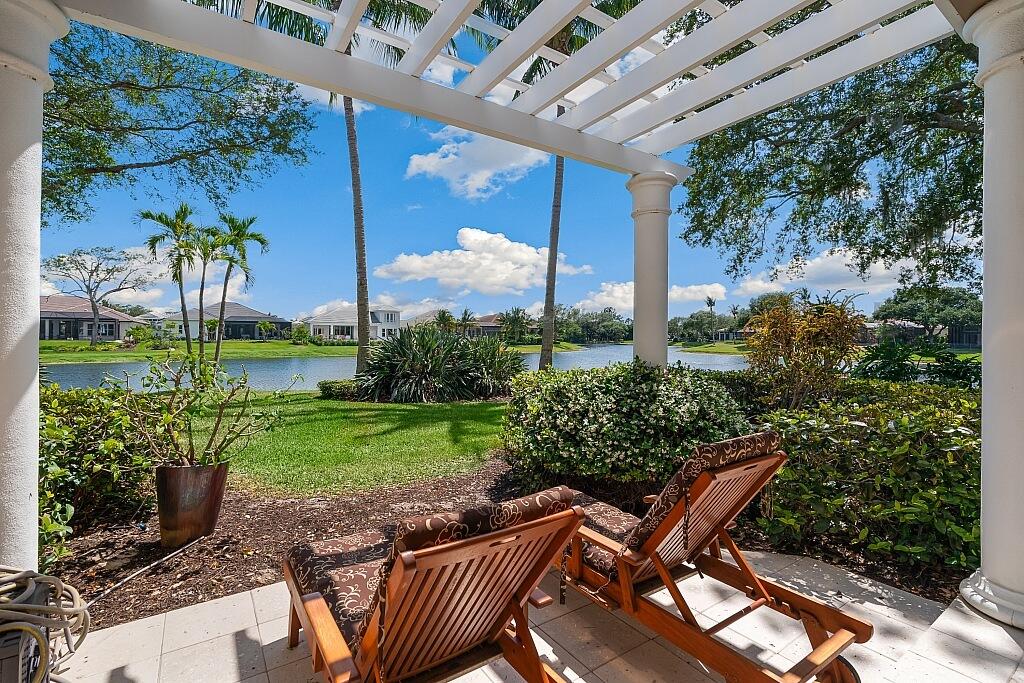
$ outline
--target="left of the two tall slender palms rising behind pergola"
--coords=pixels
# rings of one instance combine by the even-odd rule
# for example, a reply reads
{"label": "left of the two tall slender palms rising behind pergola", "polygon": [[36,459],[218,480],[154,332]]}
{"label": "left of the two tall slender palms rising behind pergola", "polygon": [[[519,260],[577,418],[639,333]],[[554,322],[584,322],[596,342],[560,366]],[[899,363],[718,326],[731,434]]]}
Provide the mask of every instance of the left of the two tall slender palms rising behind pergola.
{"label": "left of the two tall slender palms rising behind pergola", "polygon": [[[200,4],[215,7],[220,12],[241,15],[243,0],[198,0]],[[305,0],[308,4],[337,11],[341,0]],[[370,0],[365,18],[370,24],[393,34],[418,33],[430,19],[431,12],[410,2],[410,0]],[[256,6],[256,24],[273,31],[323,45],[327,40],[325,25],[298,12],[259,0]],[[355,44],[358,36],[352,37]],[[395,66],[403,51],[385,43],[373,42],[378,57],[387,66]],[[453,41],[450,50],[454,51]],[[345,53],[351,53],[351,46]],[[334,93],[332,102],[336,100]],[[362,178],[359,172],[359,151],[355,130],[355,112],[352,98],[342,95],[342,110],[345,113],[345,133],[348,142],[348,166],[352,179],[352,231],[355,237],[355,311],[358,349],[355,355],[355,372],[366,370],[370,352],[370,290],[367,281],[367,237],[362,211]]]}

